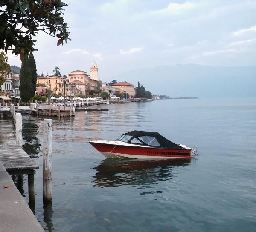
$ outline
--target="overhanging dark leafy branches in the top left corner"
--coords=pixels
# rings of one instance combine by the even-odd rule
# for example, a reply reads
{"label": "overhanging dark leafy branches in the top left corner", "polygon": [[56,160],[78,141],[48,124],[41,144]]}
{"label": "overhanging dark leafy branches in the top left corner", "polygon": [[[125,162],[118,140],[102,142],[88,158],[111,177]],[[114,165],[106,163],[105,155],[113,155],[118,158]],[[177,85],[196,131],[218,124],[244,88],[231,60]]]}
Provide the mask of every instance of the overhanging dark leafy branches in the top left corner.
{"label": "overhanging dark leafy branches in the top left corner", "polygon": [[32,37],[39,31],[58,38],[57,46],[70,40],[67,23],[61,16],[61,0],[1,0],[0,1],[0,49],[20,54],[37,51]]}

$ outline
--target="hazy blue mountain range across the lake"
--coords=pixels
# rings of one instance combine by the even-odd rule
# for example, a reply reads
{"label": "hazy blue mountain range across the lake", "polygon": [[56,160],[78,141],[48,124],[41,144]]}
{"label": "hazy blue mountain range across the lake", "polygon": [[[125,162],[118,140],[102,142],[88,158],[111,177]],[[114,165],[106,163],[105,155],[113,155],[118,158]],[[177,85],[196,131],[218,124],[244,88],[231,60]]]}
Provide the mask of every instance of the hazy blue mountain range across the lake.
{"label": "hazy blue mountain range across the lake", "polygon": [[140,81],[153,94],[169,97],[256,97],[256,66],[158,66],[131,70],[111,78],[135,86]]}

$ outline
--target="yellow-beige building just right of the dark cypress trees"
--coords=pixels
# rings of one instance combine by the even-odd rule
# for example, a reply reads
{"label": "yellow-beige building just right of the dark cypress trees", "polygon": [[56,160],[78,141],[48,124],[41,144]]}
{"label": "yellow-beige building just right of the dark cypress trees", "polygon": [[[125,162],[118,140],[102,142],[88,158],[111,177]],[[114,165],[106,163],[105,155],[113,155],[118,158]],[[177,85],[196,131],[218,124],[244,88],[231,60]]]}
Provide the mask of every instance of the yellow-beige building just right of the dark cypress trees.
{"label": "yellow-beige building just right of the dark cypress trees", "polygon": [[42,89],[51,89],[53,93],[64,95],[64,81],[66,81],[66,95],[70,95],[70,84],[67,78],[59,76],[38,77],[36,83],[36,91],[40,92]]}

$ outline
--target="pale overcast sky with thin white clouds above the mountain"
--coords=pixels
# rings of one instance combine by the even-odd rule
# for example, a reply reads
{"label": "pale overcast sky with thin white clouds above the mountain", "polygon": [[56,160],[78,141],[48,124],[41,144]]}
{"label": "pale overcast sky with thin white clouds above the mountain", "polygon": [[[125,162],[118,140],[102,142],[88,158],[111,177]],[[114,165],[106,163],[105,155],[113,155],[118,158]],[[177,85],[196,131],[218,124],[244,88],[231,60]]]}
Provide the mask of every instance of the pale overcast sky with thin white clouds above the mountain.
{"label": "pale overcast sky with thin white clouds above the mountain", "polygon": [[[37,72],[61,74],[98,63],[108,82],[122,72],[196,63],[256,65],[255,0],[63,0],[71,41],[41,33],[34,53]],[[9,55],[9,63],[21,66]],[[156,74],[157,75],[157,74]],[[121,79],[119,81],[122,81]]]}

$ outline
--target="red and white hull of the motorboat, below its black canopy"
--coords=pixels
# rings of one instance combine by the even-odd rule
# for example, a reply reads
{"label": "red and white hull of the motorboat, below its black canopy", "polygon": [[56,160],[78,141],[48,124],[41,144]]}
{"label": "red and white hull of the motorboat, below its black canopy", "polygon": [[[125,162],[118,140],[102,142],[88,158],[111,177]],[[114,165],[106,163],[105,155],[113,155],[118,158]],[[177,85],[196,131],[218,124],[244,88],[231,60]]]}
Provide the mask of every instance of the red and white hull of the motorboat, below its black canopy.
{"label": "red and white hull of the motorboat, below its black canopy", "polygon": [[139,159],[190,159],[190,149],[161,149],[142,146],[123,146],[90,142],[99,152],[108,158]]}

